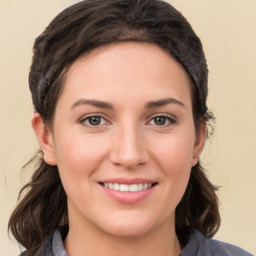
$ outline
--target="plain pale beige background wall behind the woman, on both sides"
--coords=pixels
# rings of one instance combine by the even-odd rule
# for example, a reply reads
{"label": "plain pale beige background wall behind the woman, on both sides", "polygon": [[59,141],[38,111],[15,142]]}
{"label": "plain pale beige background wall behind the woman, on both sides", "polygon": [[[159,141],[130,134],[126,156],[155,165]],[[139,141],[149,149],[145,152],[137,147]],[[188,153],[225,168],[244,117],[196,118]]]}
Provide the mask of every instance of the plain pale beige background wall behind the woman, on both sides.
{"label": "plain pale beige background wall behind the woman, on both sides", "polygon": [[[30,127],[27,75],[34,38],[77,0],[0,0],[0,250],[18,254],[8,216],[37,148]],[[209,65],[208,104],[217,117],[202,160],[221,185],[222,224],[215,238],[256,254],[256,1],[172,0],[201,38]]]}

